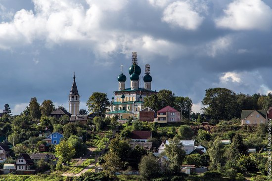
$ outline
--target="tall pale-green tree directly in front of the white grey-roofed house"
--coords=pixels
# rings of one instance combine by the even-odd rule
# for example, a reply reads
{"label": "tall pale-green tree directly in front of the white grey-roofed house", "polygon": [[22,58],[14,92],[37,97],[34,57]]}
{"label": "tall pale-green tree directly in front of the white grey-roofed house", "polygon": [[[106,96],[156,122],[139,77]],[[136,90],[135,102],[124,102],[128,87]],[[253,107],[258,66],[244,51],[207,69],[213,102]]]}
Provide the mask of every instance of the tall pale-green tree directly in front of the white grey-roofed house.
{"label": "tall pale-green tree directly in front of the white grey-roofed house", "polygon": [[181,172],[181,165],[185,158],[185,150],[179,139],[170,140],[170,143],[164,149],[164,153],[170,160],[169,168],[174,174]]}

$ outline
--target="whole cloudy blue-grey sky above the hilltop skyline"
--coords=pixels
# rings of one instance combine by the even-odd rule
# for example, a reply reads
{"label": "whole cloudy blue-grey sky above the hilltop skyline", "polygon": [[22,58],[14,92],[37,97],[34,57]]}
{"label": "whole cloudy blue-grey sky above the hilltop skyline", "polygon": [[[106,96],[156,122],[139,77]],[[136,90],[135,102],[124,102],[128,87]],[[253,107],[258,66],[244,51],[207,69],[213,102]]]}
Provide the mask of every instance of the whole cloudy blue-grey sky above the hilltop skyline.
{"label": "whole cloudy blue-grey sky above the hilltop skyline", "polygon": [[0,0],[0,109],[31,97],[68,109],[73,74],[81,109],[92,92],[118,90],[132,52],[150,64],[152,90],[272,90],[271,0]]}

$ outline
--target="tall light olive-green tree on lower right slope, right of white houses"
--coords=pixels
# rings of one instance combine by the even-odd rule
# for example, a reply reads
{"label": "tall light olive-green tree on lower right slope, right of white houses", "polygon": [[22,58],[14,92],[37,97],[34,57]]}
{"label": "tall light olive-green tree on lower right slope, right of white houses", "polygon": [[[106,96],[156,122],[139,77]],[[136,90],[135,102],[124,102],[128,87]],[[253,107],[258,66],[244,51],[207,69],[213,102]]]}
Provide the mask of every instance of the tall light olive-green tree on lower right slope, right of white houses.
{"label": "tall light olive-green tree on lower right slope, right of white houses", "polygon": [[210,156],[211,170],[220,170],[223,164],[226,163],[224,153],[224,145],[219,137],[209,143],[207,154]]}

